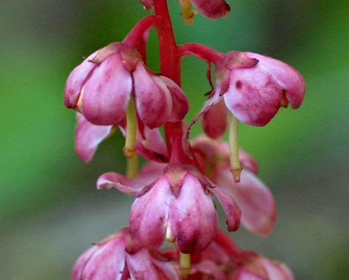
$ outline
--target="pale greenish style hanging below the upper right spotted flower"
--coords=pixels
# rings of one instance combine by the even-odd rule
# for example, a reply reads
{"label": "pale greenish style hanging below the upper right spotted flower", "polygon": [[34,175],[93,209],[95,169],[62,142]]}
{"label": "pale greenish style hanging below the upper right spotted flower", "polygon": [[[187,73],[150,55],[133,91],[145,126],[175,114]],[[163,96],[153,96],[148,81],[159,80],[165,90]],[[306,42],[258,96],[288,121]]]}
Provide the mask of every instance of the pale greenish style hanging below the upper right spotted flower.
{"label": "pale greenish style hanging below the upper right spotted flower", "polygon": [[239,121],[233,114],[229,118],[229,154],[230,154],[230,171],[233,174],[235,183],[240,182],[240,173],[242,170],[239,160],[239,147],[237,141],[237,130]]}

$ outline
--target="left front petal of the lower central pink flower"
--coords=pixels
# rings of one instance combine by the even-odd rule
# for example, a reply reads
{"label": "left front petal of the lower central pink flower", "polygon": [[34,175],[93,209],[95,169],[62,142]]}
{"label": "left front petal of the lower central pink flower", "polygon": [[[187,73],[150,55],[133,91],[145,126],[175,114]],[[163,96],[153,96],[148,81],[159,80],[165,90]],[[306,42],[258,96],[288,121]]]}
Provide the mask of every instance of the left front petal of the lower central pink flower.
{"label": "left front petal of the lower central pink flower", "polygon": [[158,248],[164,243],[172,194],[165,176],[146,188],[148,191],[141,192],[132,205],[129,229],[132,240],[137,244]]}

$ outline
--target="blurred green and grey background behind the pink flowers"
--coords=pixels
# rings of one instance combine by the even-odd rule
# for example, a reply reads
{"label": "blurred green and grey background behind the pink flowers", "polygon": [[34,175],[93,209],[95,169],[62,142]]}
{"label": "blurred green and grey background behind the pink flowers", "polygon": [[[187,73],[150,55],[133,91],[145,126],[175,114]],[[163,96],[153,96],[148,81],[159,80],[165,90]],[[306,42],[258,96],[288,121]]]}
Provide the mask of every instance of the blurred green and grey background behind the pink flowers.
{"label": "blurred green and grey background behind the pink flowers", "polygon": [[[178,43],[268,54],[307,82],[300,109],[280,109],[263,128],[240,126],[240,144],[258,160],[278,219],[270,237],[244,229],[230,236],[287,263],[296,279],[348,279],[349,2],[228,1],[228,18],[198,15],[194,26],[183,25],[178,4],[169,2]],[[121,41],[145,15],[137,0],[2,0],[1,279],[68,279],[92,242],[127,225],[132,198],[95,189],[101,173],[124,173],[122,136],[100,145],[91,163],[80,162],[63,88],[83,57]],[[156,71],[154,33],[150,39],[149,67]],[[188,120],[209,90],[205,71],[204,63],[184,59]],[[191,135],[199,133],[197,124]]]}

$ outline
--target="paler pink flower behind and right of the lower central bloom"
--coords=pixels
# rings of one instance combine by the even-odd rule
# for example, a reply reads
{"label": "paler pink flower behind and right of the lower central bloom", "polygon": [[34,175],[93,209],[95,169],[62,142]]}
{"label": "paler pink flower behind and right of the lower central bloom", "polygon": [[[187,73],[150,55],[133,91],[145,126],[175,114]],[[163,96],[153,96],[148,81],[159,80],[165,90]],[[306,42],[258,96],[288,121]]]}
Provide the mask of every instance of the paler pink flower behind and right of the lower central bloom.
{"label": "paler pink flower behind and right of the lower central bloom", "polygon": [[228,144],[200,136],[193,142],[193,152],[205,175],[227,192],[241,209],[241,223],[252,233],[266,236],[273,231],[276,206],[271,191],[255,176],[257,163],[239,151],[243,171],[235,183],[230,171]]}

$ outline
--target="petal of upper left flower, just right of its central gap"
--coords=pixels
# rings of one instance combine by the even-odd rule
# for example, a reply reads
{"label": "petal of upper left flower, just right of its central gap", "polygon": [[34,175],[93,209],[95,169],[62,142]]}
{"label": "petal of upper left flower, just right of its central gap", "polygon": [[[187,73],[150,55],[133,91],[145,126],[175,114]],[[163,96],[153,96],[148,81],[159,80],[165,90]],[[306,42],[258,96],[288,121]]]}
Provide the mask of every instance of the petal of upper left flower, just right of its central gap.
{"label": "petal of upper left flower, just right of its central gap", "polygon": [[163,125],[171,116],[172,99],[165,83],[155,75],[150,75],[139,63],[133,72],[135,82],[135,102],[142,122],[155,128]]}

